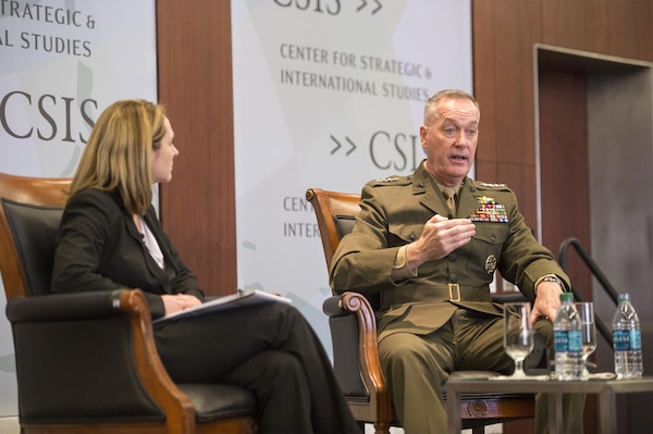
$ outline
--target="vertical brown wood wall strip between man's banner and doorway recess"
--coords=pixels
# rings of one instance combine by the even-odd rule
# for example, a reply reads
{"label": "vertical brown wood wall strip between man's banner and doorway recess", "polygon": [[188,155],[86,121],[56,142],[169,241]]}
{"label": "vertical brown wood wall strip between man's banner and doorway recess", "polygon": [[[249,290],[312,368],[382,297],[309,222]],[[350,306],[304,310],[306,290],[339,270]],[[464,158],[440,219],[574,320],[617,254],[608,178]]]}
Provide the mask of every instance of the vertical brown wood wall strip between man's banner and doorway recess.
{"label": "vertical brown wood wall strip between man's banner and doorway recess", "polygon": [[[532,45],[540,1],[473,3],[475,92],[481,106],[477,178],[506,183],[519,197],[527,224],[537,226]],[[519,23],[529,23],[520,26]],[[501,28],[501,32],[496,29]],[[477,41],[483,41],[478,45]],[[519,91],[516,91],[519,89]],[[521,146],[506,146],[521,144]],[[483,168],[494,166],[491,173]]]}

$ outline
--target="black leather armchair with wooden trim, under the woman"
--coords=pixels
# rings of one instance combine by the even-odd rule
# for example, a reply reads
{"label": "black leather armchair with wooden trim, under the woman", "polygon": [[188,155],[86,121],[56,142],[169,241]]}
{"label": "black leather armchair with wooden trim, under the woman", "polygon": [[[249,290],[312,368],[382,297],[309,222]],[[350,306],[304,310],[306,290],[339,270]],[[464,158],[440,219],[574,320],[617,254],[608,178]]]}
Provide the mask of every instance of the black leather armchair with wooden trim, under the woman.
{"label": "black leather armchair with wooden trim, under the woman", "polygon": [[170,379],[140,290],[49,294],[69,183],[0,174],[0,271],[22,433],[255,433],[250,392]]}

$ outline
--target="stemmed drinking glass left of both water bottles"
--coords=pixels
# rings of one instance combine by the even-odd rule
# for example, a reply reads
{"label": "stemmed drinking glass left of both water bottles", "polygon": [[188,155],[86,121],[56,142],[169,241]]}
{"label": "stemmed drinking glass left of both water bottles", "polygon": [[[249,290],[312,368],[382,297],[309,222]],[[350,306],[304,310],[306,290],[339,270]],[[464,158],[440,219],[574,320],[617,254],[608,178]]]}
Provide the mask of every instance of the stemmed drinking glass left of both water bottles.
{"label": "stemmed drinking glass left of both water bottles", "polygon": [[515,360],[515,372],[509,379],[528,379],[523,372],[523,359],[533,350],[533,332],[530,323],[529,302],[504,305],[504,349]]}

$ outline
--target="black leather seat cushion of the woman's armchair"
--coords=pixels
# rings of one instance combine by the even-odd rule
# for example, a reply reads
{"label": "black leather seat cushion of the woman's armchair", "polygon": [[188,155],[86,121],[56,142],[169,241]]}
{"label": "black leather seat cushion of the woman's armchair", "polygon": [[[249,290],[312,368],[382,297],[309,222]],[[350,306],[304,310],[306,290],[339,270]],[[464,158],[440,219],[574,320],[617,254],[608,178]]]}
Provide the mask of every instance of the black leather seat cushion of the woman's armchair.
{"label": "black leather seat cushion of the woman's armchair", "polygon": [[243,387],[224,384],[177,384],[195,407],[197,422],[242,416],[256,416],[254,394]]}

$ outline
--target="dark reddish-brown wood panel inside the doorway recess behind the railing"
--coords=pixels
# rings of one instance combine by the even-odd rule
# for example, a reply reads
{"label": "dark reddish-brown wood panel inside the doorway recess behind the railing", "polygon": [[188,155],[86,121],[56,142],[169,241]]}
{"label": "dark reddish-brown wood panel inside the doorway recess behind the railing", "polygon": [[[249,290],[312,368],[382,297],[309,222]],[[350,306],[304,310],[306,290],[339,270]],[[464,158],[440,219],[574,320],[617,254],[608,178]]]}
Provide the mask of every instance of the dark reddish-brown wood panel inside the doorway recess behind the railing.
{"label": "dark reddish-brown wood panel inside the doorway recess behind the railing", "polygon": [[[542,241],[557,247],[575,236],[589,247],[588,78],[554,67],[539,76],[540,158],[547,168],[542,171]],[[568,270],[575,290],[591,300],[591,276],[577,255],[569,255]]]}

